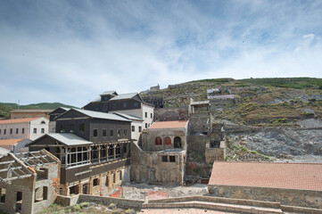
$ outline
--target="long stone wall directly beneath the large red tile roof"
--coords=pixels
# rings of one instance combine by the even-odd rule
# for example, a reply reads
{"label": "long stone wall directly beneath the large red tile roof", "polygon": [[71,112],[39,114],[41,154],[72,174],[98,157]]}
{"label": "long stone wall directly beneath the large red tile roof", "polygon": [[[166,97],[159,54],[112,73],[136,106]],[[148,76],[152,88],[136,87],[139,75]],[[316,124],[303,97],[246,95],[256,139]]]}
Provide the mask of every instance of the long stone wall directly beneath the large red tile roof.
{"label": "long stone wall directly beneath the large red tile roof", "polygon": [[233,185],[208,185],[208,190],[217,197],[280,202],[282,205],[322,209],[322,191]]}

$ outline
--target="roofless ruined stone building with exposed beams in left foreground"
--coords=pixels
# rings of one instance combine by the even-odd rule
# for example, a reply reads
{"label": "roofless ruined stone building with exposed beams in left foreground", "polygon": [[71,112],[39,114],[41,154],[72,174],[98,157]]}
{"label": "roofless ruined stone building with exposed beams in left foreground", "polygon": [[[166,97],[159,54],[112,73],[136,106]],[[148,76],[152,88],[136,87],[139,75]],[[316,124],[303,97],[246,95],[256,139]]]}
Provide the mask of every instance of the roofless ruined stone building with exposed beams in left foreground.
{"label": "roofless ruined stone building with exposed beams in left foreground", "polygon": [[59,191],[59,162],[45,150],[1,157],[0,210],[32,214],[53,204]]}

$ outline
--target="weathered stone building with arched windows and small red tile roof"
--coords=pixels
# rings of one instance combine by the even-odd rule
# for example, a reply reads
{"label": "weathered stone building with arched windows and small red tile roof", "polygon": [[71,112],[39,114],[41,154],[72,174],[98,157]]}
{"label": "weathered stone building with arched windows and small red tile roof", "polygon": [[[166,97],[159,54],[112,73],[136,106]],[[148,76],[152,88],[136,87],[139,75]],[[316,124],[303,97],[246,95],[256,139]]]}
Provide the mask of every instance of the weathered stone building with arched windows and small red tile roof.
{"label": "weathered stone building with arched windows and small red tile roof", "polygon": [[153,185],[184,184],[187,120],[154,122],[131,144],[131,180]]}

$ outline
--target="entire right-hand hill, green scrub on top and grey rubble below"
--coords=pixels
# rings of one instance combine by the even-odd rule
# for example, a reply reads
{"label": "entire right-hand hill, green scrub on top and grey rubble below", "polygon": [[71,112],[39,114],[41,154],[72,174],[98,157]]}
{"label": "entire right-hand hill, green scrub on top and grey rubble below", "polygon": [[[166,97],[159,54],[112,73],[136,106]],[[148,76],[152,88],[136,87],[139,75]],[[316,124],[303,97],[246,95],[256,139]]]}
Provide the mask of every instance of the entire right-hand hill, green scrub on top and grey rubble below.
{"label": "entire right-hand hill, green scrub on top and grey rubble below", "polygon": [[322,162],[321,78],[202,79],[141,95],[162,97],[169,108],[185,105],[187,97],[207,100],[214,88],[215,95],[234,95],[210,99],[214,118],[227,127],[227,160],[305,156]]}

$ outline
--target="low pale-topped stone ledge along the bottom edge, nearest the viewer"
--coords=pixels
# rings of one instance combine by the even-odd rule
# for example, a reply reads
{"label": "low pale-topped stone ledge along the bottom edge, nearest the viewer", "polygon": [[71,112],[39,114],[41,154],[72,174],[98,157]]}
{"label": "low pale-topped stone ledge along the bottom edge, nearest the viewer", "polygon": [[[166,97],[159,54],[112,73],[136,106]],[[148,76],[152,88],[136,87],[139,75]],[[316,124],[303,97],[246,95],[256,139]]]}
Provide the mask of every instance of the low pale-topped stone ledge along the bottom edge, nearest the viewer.
{"label": "low pale-topped stone ledge along the bottom edge, nearest the viewer", "polygon": [[250,205],[240,205],[240,204],[229,204],[222,202],[201,202],[201,201],[190,201],[190,202],[161,202],[161,203],[144,203],[142,204],[142,209],[169,209],[169,208],[197,208],[204,210],[220,210],[227,212],[237,212],[237,213],[283,213],[281,209],[278,208],[264,208],[256,207]]}

